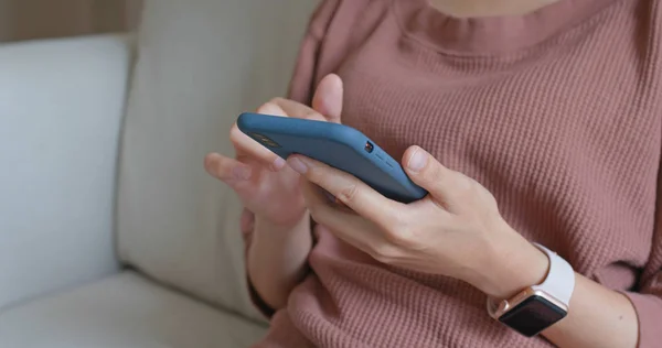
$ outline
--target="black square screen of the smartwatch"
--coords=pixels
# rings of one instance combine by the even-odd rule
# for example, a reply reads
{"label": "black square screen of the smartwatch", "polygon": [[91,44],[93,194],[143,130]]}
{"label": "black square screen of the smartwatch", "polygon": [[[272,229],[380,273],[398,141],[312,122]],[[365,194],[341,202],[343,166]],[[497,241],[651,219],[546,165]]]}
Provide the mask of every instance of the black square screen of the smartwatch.
{"label": "black square screen of the smartwatch", "polygon": [[567,312],[545,297],[533,295],[504,313],[499,320],[531,337],[563,319]]}

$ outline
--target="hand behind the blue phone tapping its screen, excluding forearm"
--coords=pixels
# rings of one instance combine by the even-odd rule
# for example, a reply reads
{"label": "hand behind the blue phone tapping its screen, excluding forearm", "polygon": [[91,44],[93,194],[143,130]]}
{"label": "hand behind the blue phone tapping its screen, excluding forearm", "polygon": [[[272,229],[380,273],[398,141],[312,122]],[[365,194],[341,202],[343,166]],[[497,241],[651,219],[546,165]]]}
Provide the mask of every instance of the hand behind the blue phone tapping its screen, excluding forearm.
{"label": "hand behind the blue phone tapping its screen, excluding forearm", "polygon": [[[320,81],[312,108],[276,98],[257,109],[259,113],[328,122],[340,122],[341,111],[342,81],[337,75],[328,75]],[[229,185],[256,217],[281,227],[295,226],[306,216],[299,174],[287,166],[285,160],[239,131],[236,123],[229,138],[235,157],[211,153],[205,157],[206,171]]]}

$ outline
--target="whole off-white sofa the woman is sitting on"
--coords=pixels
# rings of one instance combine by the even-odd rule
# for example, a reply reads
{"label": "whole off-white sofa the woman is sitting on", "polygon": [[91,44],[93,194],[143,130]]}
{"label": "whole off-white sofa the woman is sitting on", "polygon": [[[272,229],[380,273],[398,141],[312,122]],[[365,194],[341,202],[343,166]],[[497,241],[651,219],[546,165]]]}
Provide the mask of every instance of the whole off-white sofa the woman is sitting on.
{"label": "whole off-white sofa the woman is sitting on", "polygon": [[316,1],[148,0],[137,34],[0,45],[0,347],[248,347],[241,206],[207,177]]}

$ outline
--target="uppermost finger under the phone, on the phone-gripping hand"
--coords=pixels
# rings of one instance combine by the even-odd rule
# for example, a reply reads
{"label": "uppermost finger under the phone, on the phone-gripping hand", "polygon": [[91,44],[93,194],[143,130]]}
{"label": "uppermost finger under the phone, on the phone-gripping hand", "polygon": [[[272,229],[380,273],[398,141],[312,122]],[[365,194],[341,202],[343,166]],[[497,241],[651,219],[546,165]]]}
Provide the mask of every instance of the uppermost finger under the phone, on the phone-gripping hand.
{"label": "uppermost finger under the phone, on the phone-gripping hand", "polygon": [[[302,155],[287,160],[289,166],[311,183],[328,191],[356,214],[386,227],[395,224],[394,218],[405,205],[388,199],[355,176]],[[398,210],[399,209],[399,210]]]}

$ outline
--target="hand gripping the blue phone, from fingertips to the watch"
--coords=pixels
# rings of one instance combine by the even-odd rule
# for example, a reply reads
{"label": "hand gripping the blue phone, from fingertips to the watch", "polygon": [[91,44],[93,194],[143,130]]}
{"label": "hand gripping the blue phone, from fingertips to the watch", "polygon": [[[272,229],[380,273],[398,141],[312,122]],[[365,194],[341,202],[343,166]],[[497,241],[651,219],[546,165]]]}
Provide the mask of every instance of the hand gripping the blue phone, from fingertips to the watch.
{"label": "hand gripping the blue phone, from fingertips to the watch", "polygon": [[380,262],[456,278],[495,298],[546,275],[547,257],[503,220],[492,194],[418,146],[407,150],[403,167],[429,195],[412,204],[387,199],[356,177],[308,157],[293,155],[288,163],[306,178],[313,219]]}

